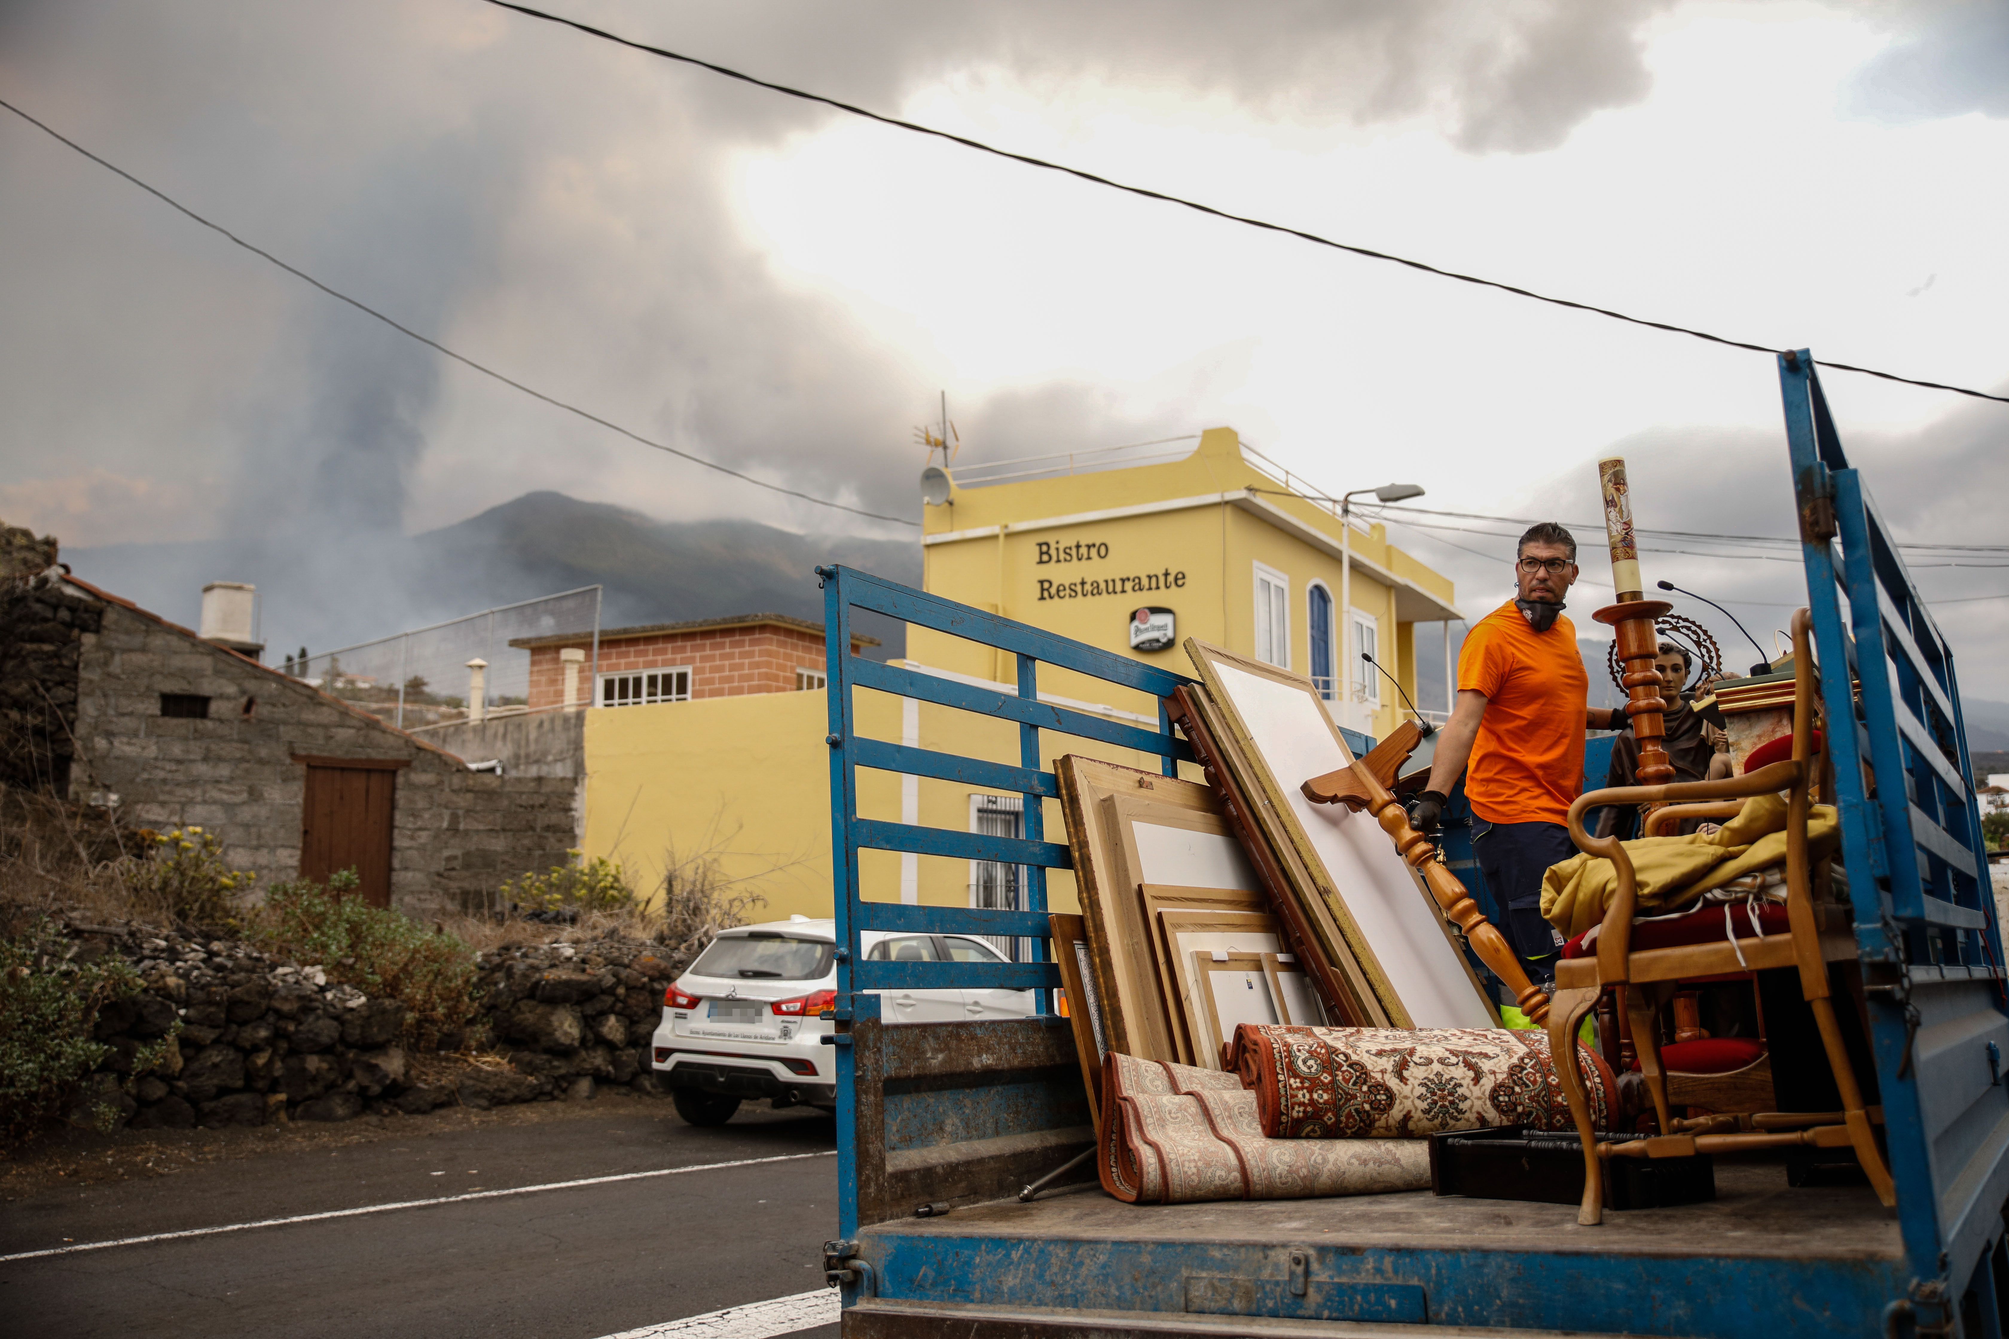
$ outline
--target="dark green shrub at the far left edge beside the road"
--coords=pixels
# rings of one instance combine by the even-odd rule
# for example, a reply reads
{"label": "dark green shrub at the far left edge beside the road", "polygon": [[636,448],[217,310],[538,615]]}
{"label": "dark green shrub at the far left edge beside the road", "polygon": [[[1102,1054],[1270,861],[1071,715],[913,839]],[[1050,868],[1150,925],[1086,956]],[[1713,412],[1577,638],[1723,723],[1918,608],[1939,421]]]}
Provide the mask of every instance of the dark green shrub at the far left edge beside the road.
{"label": "dark green shrub at the far left edge beside the road", "polygon": [[[76,948],[48,917],[0,940],[0,1148],[62,1112],[76,1084],[113,1054],[90,1036],[98,1010],[143,990],[139,972],[123,958],[86,962]],[[161,1064],[175,1032],[141,1048],[133,1072]],[[98,1102],[88,1118],[110,1130],[119,1108]]]}

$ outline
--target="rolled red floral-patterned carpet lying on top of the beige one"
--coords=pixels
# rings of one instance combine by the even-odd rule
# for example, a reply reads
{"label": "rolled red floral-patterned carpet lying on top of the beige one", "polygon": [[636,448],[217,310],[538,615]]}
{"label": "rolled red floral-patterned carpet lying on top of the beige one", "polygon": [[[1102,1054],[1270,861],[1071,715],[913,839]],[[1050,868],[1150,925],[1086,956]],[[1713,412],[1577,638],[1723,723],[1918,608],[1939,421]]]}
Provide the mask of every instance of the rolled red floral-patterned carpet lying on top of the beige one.
{"label": "rolled red floral-patterned carpet lying on top of the beige one", "polygon": [[[1617,1082],[1587,1046],[1591,1124],[1611,1128]],[[1422,1138],[1519,1124],[1575,1130],[1547,1032],[1242,1024],[1227,1068],[1270,1138]]]}

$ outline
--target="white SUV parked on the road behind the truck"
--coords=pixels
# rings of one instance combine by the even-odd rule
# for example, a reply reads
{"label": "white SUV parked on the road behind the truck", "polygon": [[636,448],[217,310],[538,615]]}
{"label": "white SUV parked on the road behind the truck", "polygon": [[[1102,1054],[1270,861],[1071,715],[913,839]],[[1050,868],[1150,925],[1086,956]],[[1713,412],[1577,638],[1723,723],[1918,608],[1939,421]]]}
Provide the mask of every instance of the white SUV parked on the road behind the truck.
{"label": "white SUV parked on the road behind the truck", "polygon": [[[868,962],[1011,962],[972,935],[862,935]],[[1029,1018],[1031,990],[880,990],[890,1024]],[[651,1064],[691,1124],[725,1124],[745,1098],[784,1106],[838,1104],[836,921],[794,915],[719,931],[663,992]]]}

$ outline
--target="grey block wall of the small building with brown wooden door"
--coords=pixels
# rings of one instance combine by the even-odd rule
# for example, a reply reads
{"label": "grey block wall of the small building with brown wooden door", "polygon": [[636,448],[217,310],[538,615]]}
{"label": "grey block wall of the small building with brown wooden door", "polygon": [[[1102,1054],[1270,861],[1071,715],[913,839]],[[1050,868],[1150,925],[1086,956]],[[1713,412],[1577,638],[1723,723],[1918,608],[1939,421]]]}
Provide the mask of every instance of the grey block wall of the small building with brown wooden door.
{"label": "grey block wall of the small building with brown wooden door", "polygon": [[[406,759],[392,905],[420,917],[480,905],[502,879],[563,863],[575,845],[575,781],[470,773],[317,689],[82,582],[66,586],[98,616],[78,638],[72,797],[117,803],[131,825],[205,827],[235,867],[271,883],[299,871],[305,767],[295,757]],[[207,697],[209,715],[167,717],[161,695]]]}

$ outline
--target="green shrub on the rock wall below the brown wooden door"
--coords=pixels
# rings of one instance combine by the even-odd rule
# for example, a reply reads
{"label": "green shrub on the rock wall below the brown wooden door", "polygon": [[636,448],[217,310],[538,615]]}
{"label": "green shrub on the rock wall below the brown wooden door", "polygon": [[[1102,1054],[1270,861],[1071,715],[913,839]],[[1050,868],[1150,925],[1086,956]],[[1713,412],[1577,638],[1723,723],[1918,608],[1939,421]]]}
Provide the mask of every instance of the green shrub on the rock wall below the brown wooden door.
{"label": "green shrub on the rock wall below the brown wooden door", "polygon": [[331,982],[404,1004],[406,1036],[430,1046],[474,1016],[474,950],[390,907],[356,897],[356,871],[265,891],[253,938],[273,956],[319,966]]}

